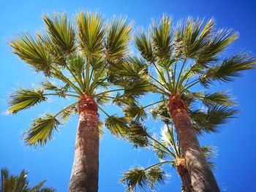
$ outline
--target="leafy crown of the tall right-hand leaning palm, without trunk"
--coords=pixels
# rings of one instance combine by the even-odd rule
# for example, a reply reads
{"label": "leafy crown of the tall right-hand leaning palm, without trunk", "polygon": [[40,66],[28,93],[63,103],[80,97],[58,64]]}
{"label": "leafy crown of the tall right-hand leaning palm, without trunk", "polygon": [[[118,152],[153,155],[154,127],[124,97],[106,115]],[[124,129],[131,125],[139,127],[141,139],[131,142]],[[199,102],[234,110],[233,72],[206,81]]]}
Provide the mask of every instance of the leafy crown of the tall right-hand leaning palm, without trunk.
{"label": "leafy crown of the tall right-hand leaning palm, without trunk", "polygon": [[255,56],[246,52],[223,56],[237,38],[238,33],[233,30],[217,29],[213,18],[187,18],[173,26],[172,19],[163,15],[152,22],[148,33],[140,30],[135,36],[140,55],[127,59],[124,66],[113,66],[115,74],[109,77],[116,85],[127,80],[143,81],[147,88],[143,91],[159,93],[161,99],[144,107],[137,100],[131,101],[131,97],[118,96],[114,101],[123,105],[130,120],[145,120],[146,108],[155,106],[151,110],[153,117],[159,116],[168,123],[171,117],[167,102],[172,94],[178,95],[185,101],[198,134],[217,131],[217,126],[226,123],[237,110],[230,93],[210,91],[211,85],[232,81],[256,64]]}

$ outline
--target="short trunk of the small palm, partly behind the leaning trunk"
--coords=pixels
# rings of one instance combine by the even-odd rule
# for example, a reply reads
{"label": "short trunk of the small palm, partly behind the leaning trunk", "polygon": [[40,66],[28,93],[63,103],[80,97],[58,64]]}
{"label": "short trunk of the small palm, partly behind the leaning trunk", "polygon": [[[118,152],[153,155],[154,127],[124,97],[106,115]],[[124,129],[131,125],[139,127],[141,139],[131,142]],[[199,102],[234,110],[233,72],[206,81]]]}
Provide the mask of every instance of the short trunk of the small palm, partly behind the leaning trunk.
{"label": "short trunk of the small palm, partly behind the leaning trunk", "polygon": [[176,167],[177,167],[177,172],[178,175],[181,177],[182,180],[182,191],[185,192],[195,192],[191,179],[189,176],[189,170],[187,169],[187,164],[184,158],[178,158],[176,160]]}

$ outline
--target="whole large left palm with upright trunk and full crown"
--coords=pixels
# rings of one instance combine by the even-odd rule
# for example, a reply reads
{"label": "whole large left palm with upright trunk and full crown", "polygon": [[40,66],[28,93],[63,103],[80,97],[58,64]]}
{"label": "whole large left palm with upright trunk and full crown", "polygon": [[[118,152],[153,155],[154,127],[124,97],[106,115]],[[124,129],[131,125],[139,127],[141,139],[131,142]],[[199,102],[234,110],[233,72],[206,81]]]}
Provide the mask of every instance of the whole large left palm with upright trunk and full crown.
{"label": "whole large left palm with upright trunk and full crown", "polygon": [[[75,98],[72,104],[56,114],[45,114],[34,120],[24,133],[27,145],[45,145],[52,139],[53,131],[70,115],[79,114],[75,142],[75,157],[69,191],[97,191],[99,169],[98,109],[107,119],[105,126],[122,137],[127,130],[127,120],[108,115],[104,104],[114,92],[132,94],[136,81],[116,88],[108,82],[110,66],[118,65],[127,55],[132,23],[126,18],[113,18],[105,23],[98,12],[80,12],[76,17],[77,28],[65,14],[44,16],[45,31],[36,37],[22,34],[10,42],[13,53],[18,55],[36,72],[45,75],[39,88],[19,88],[10,95],[9,112],[26,110],[49,96],[63,99]],[[53,82],[52,80],[56,80]],[[145,91],[146,92],[146,88]],[[143,90],[140,90],[143,94]]]}

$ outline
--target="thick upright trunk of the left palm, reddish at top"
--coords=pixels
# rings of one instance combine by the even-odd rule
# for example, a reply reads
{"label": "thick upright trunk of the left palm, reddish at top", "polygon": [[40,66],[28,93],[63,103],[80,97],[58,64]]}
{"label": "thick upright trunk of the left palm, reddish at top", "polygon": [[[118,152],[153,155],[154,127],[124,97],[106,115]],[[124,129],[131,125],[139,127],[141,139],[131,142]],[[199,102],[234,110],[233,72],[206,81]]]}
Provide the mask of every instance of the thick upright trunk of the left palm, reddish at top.
{"label": "thick upright trunk of the left palm, reddish at top", "polygon": [[79,123],[69,192],[97,192],[99,172],[98,107],[91,95],[78,102]]}

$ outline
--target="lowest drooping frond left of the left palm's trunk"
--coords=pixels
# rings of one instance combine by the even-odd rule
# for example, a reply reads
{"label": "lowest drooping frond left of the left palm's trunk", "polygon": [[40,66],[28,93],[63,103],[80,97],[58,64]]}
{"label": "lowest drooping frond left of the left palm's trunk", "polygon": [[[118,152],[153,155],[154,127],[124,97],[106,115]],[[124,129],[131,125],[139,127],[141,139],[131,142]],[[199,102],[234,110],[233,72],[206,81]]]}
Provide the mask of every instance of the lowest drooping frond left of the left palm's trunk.
{"label": "lowest drooping frond left of the left palm's trunk", "polygon": [[23,133],[23,140],[27,145],[45,145],[48,139],[53,139],[53,131],[57,130],[57,127],[61,123],[55,116],[46,114],[43,118],[37,118],[32,123],[31,127]]}

